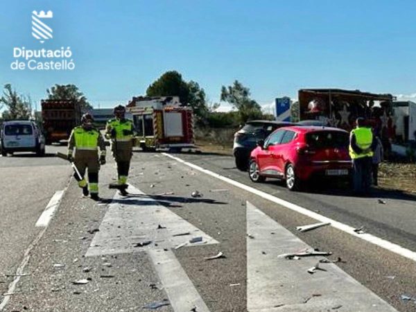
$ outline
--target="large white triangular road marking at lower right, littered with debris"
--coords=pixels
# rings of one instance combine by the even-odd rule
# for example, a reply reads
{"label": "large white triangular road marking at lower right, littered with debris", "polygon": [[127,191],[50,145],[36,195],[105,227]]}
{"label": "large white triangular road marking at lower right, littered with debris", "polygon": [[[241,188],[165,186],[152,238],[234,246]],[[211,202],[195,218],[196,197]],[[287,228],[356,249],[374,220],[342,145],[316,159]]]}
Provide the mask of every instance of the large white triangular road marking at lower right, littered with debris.
{"label": "large white triangular road marking at lower right, littered with debris", "polygon": [[313,249],[250,202],[246,206],[247,232],[254,236],[247,237],[249,312],[331,311],[335,306],[343,306],[342,311],[396,311],[334,263],[320,263],[326,271],[309,274],[308,268],[324,257],[279,259],[279,254]]}

